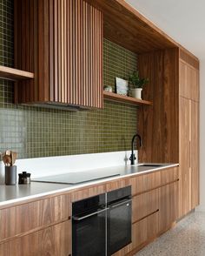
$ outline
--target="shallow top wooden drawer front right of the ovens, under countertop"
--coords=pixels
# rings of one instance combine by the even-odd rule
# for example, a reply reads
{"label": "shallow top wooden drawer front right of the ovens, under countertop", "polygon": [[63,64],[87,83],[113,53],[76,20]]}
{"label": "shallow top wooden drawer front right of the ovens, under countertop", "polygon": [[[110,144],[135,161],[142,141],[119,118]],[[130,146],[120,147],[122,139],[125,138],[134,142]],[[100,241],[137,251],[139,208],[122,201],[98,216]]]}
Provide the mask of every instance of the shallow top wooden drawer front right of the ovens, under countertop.
{"label": "shallow top wooden drawer front right of the ovens, under countertop", "polygon": [[153,172],[130,179],[132,195],[147,192],[161,185],[161,172]]}

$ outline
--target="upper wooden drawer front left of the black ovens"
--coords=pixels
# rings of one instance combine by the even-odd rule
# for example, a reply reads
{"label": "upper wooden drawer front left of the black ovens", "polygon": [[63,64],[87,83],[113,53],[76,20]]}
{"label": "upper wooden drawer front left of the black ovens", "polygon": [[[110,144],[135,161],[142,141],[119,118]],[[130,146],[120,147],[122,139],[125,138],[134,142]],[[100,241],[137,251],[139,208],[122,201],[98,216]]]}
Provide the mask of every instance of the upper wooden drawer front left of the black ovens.
{"label": "upper wooden drawer front left of the black ovens", "polygon": [[69,219],[69,195],[0,210],[0,241]]}

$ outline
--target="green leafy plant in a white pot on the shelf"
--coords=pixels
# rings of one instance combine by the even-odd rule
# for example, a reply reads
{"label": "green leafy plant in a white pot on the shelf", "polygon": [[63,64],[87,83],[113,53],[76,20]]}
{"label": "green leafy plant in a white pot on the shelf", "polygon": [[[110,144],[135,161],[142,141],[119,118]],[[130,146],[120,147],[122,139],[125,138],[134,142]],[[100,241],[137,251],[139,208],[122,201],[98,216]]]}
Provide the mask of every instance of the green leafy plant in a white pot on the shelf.
{"label": "green leafy plant in a white pot on the shelf", "polygon": [[133,71],[129,75],[129,84],[133,85],[132,97],[142,99],[142,87],[149,82],[148,78],[140,78],[139,71]]}

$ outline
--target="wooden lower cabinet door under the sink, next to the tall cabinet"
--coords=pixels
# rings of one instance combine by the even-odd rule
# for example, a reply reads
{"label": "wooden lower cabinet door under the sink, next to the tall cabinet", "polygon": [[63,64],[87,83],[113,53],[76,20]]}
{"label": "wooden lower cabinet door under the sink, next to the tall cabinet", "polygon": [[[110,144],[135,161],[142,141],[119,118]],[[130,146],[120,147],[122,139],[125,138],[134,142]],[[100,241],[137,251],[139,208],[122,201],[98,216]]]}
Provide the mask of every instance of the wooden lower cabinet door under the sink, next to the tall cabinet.
{"label": "wooden lower cabinet door under the sink, next to the tall cabinet", "polygon": [[159,232],[168,228],[178,217],[178,185],[176,181],[159,189]]}

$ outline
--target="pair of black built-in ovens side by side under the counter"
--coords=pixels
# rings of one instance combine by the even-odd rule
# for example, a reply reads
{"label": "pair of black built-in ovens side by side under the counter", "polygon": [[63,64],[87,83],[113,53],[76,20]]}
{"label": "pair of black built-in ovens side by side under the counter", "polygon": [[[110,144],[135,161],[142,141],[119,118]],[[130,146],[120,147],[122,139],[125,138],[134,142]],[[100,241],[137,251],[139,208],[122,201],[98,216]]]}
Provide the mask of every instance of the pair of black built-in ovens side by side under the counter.
{"label": "pair of black built-in ovens side by side under the counter", "polygon": [[131,242],[131,186],[77,201],[72,255],[109,256]]}

